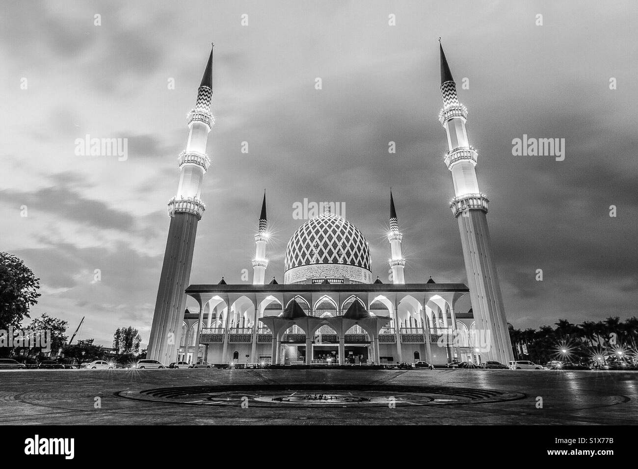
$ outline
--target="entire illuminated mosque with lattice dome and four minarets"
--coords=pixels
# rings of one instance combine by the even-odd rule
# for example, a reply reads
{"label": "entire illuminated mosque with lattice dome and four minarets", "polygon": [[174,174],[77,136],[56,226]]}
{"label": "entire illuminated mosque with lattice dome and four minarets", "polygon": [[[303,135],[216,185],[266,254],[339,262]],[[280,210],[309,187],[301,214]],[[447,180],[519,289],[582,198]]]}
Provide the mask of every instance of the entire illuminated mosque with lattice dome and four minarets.
{"label": "entire illuminated mosque with lattice dome and four minarets", "polygon": [[[200,196],[211,165],[206,154],[211,112],[212,49],[188,119],[180,180],[168,204],[170,228],[147,358],[210,364],[364,365],[427,361],[507,363],[512,348],[487,229],[487,197],[479,191],[477,151],[465,130],[467,109],[440,47],[443,109],[439,121],[450,151],[450,209],[459,225],[468,285],[406,283],[394,197],[390,191],[389,267],[392,283],[373,279],[369,243],[335,207],[303,223],[290,237],[283,282],[265,282],[269,230],[263,195],[255,234],[253,284],[189,285]],[[191,313],[186,295],[197,301]],[[470,311],[457,301],[470,295]]]}

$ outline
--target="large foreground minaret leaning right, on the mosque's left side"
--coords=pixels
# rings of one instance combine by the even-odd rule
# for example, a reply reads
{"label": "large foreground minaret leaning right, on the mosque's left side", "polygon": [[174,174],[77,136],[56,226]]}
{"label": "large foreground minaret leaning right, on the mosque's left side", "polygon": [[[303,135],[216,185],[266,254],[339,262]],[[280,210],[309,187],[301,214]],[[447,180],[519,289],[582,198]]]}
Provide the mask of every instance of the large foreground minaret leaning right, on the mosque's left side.
{"label": "large foreground minaret leaning right, on the mosque's left side", "polygon": [[186,150],[177,158],[180,170],[177,195],[168,202],[170,227],[147,351],[148,359],[165,365],[177,358],[186,306],[184,291],[191,275],[197,222],[205,209],[200,195],[204,174],[211,165],[206,155],[208,133],[214,124],[211,100],[212,47],[195,109],[188,115]]}

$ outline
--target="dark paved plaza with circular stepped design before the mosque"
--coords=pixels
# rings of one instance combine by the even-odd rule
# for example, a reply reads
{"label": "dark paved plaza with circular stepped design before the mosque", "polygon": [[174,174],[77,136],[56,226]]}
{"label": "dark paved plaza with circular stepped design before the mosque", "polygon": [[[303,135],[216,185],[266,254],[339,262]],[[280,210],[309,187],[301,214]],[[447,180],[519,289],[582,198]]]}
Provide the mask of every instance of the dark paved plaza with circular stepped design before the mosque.
{"label": "dark paved plaza with circular stepped design before the mosque", "polygon": [[0,423],[635,424],[637,389],[622,371],[18,370]]}

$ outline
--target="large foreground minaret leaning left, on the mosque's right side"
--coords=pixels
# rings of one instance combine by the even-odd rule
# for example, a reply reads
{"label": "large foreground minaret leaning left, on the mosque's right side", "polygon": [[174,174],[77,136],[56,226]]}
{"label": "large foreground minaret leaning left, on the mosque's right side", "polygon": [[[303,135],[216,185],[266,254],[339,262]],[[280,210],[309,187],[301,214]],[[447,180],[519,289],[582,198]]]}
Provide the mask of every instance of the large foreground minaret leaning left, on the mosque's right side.
{"label": "large foreground minaret leaning left, on the mosque's right side", "polygon": [[[503,364],[513,360],[503,296],[496,272],[496,261],[487,229],[487,197],[479,190],[475,167],[478,154],[470,146],[465,123],[468,110],[459,103],[456,84],[441,49],[441,94],[443,109],[439,121],[447,131],[450,151],[445,164],[452,172],[454,199],[450,209],[459,223],[470,299],[476,321],[474,346],[481,359]],[[487,333],[489,331],[489,334]],[[482,335],[482,337],[481,337]]]}

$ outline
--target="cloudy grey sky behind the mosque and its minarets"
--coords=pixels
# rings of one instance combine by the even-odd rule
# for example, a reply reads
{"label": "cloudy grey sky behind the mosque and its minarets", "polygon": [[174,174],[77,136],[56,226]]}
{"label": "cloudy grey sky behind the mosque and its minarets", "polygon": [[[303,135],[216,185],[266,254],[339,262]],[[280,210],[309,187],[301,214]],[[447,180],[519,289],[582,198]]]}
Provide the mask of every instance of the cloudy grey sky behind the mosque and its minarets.
{"label": "cloudy grey sky behind the mosque and its minarets", "polygon": [[[32,316],[64,318],[72,332],[85,315],[80,338],[103,345],[128,325],[147,341],[166,204],[211,41],[216,126],[191,283],[241,283],[242,269],[252,271],[264,188],[275,232],[267,278],[283,281],[286,242],[302,223],[292,206],[308,198],[345,204],[371,244],[373,274],[387,281],[390,186],[406,281],[464,282],[437,120],[439,36],[470,110],[508,321],[636,314],[633,1],[4,1],[1,9],[0,249],[41,279]],[[128,160],[75,155],[87,134],[128,138]],[[524,134],[565,138],[565,160],[512,156]]]}

